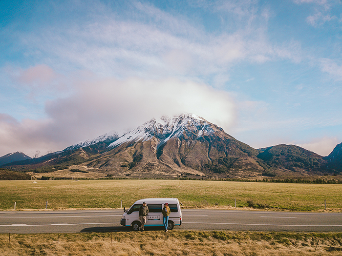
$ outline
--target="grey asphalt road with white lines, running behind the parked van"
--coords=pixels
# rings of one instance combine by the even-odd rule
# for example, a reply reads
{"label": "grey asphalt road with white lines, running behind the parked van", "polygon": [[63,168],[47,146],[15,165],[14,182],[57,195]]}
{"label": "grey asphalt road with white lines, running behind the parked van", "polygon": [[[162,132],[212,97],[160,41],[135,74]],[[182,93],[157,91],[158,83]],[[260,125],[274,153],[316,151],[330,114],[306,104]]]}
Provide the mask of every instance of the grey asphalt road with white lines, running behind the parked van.
{"label": "grey asphalt road with white lines, running behind the parked van", "polygon": [[[123,210],[1,211],[0,233],[129,231],[120,225],[122,214]],[[175,229],[342,232],[342,213],[182,210],[182,220]]]}

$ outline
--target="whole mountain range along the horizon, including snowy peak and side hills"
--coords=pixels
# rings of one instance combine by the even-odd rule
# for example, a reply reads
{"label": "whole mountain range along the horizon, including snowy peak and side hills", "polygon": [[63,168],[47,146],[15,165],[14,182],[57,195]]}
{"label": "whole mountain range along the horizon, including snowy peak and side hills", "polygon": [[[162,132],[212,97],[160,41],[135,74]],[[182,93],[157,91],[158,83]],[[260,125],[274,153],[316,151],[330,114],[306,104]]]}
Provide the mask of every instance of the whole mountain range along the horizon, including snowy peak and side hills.
{"label": "whole mountain range along the horizon, including snowy peak and side hills", "polygon": [[328,157],[295,145],[254,149],[204,118],[182,114],[153,118],[121,137],[111,132],[4,166],[53,172],[80,165],[109,177],[133,178],[308,177],[341,173],[341,148],[342,143]]}

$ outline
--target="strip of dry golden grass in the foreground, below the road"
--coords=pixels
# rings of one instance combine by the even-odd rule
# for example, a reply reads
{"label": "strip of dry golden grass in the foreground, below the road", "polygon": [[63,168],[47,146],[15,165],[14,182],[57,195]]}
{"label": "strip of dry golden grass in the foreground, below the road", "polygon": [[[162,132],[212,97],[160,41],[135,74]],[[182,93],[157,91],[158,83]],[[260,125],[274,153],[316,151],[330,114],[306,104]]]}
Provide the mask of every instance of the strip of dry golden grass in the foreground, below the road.
{"label": "strip of dry golden grass in the foreground, below the road", "polygon": [[6,256],[337,256],[342,254],[341,251],[328,252],[330,247],[342,247],[342,233],[146,231],[112,234],[11,234],[10,240],[9,234],[0,234],[0,255]]}

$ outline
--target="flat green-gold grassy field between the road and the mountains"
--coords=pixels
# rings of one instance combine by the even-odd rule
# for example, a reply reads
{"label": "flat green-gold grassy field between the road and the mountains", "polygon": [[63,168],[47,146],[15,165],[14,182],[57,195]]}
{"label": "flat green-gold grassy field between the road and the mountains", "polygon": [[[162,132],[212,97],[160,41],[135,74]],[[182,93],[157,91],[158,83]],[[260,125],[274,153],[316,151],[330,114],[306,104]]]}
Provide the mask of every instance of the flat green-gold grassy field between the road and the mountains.
{"label": "flat green-gold grassy field between the road and the mountains", "polygon": [[[36,182],[36,183],[34,183]],[[1,180],[0,209],[129,207],[149,197],[177,197],[184,208],[248,207],[320,211],[342,208],[342,185],[205,180]]]}

